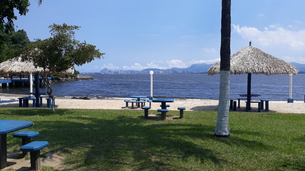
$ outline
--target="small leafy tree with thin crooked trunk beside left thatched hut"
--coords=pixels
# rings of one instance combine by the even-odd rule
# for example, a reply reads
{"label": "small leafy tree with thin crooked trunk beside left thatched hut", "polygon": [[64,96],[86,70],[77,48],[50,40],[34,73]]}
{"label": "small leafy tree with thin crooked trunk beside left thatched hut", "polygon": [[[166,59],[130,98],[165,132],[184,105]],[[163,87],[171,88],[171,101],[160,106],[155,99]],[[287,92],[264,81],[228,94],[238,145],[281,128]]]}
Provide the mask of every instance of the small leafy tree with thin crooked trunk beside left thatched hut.
{"label": "small leafy tree with thin crooked trunk beside left thatched hut", "polygon": [[20,50],[13,50],[11,55],[21,56],[23,61],[31,61],[35,67],[43,68],[47,93],[52,98],[52,113],[55,113],[53,90],[48,77],[64,73],[65,70],[74,68],[74,65],[81,66],[94,59],[100,59],[105,53],[100,53],[94,45],[75,39],[75,30],[78,30],[79,26],[68,26],[64,23],[53,24],[49,28],[52,37],[36,39]]}

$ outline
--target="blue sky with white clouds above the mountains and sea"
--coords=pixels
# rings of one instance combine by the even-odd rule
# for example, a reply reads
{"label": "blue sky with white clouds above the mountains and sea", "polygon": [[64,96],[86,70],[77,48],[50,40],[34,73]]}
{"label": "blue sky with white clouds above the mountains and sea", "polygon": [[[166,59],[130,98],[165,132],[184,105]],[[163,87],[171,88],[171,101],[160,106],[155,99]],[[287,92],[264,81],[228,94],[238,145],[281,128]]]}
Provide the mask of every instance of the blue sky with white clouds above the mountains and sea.
{"label": "blue sky with white clouds above the mountains and sea", "polygon": [[[52,23],[81,26],[76,38],[105,58],[81,72],[189,67],[220,56],[221,0],[31,1],[15,25],[30,40],[50,37]],[[305,1],[232,0],[231,53],[249,45],[287,62],[305,63]]]}

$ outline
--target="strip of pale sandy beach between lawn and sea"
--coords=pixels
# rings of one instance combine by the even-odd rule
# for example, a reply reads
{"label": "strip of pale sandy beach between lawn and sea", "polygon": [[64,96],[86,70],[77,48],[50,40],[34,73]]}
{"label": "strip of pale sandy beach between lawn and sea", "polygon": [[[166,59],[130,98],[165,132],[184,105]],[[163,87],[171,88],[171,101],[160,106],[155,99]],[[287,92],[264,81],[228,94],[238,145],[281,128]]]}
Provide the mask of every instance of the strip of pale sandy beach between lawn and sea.
{"label": "strip of pale sandy beach between lawn and sea", "polygon": [[[18,97],[24,97],[24,95],[9,95],[0,94],[1,100],[17,99]],[[18,99],[17,99],[18,100]],[[30,106],[32,102],[30,101]],[[46,100],[43,99],[46,107]],[[175,100],[170,104],[170,110],[177,110],[177,107],[186,107],[187,111],[217,111],[217,100]],[[146,105],[149,105],[147,103]],[[160,108],[160,103],[152,103],[152,110]],[[246,103],[240,102],[241,108],[237,108],[237,111],[245,111]],[[142,110],[141,108],[131,109],[125,107],[124,99],[70,99],[69,97],[57,97],[55,100],[55,106],[59,109],[118,109],[118,110]],[[19,107],[19,102],[1,103],[0,107]],[[251,105],[253,112],[257,112],[257,104]],[[262,112],[265,112],[262,110]],[[269,112],[280,113],[305,113],[305,104],[302,101],[296,101],[295,103],[287,103],[285,101],[270,101]]]}

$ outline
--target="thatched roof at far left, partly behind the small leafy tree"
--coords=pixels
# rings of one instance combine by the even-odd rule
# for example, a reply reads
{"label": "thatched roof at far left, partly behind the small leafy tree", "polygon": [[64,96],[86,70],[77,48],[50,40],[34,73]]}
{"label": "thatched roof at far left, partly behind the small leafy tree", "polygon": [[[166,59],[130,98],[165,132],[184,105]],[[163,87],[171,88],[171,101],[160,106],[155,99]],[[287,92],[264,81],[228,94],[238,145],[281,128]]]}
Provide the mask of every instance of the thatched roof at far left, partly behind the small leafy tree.
{"label": "thatched roof at far left, partly behind the small leafy tree", "polygon": [[[35,67],[34,63],[29,61],[21,61],[21,58],[14,58],[0,63],[0,73],[11,73],[11,74],[34,74],[37,71],[41,75],[48,74],[48,70],[44,70],[41,67]],[[74,68],[65,70],[64,72],[52,73],[56,75],[73,74]]]}

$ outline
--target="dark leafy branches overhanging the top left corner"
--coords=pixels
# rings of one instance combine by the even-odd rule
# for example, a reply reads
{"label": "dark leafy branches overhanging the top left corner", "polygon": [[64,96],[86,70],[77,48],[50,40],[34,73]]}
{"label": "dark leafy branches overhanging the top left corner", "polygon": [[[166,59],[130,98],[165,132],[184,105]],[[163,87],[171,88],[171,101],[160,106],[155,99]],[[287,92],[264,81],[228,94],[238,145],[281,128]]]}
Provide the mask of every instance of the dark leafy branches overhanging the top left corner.
{"label": "dark leafy branches overhanging the top left corner", "polygon": [[[42,0],[36,0],[38,6],[41,5]],[[0,1],[0,23],[3,23],[5,19],[8,22],[13,22],[17,19],[14,11],[19,11],[20,16],[26,15],[29,12],[30,1],[29,0],[1,0]]]}

